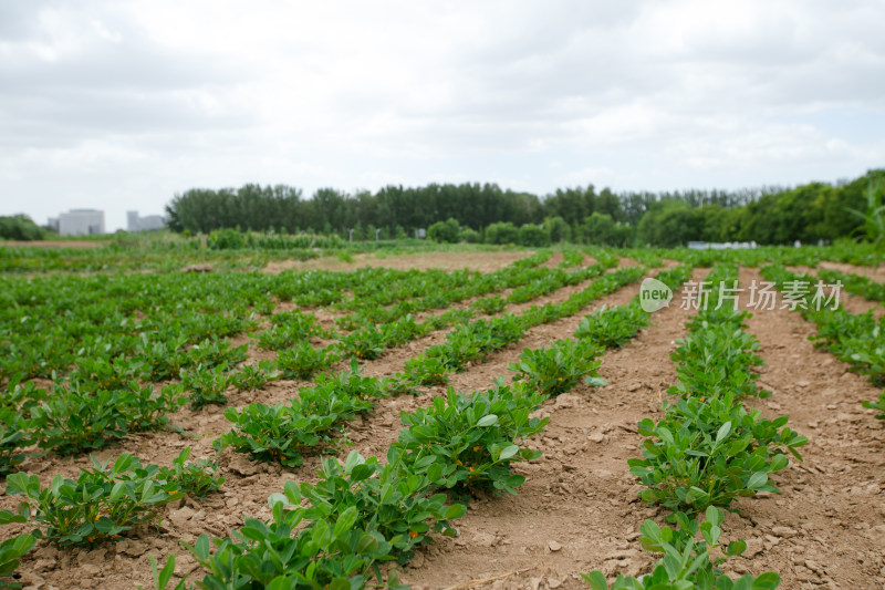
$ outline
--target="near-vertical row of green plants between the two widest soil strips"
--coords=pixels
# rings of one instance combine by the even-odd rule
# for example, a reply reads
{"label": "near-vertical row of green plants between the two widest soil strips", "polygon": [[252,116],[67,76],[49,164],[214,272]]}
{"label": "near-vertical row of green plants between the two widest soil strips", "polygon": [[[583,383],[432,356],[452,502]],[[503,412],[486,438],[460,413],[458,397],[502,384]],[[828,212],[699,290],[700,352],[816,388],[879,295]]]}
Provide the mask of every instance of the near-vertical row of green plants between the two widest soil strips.
{"label": "near-vertical row of green plants between the two widest soil strips", "polygon": [[[737,269],[718,266],[708,278],[737,287]],[[732,307],[701,309],[688,323],[689,332],[671,354],[678,382],[668,391],[675,401],[664,404],[657,423],[645,418],[638,433],[645,436],[642,458],[627,463],[645,486],[639,498],[671,510],[674,528],[646,520],[641,529],[644,548],[664,553],[649,576],[618,576],[614,589],[762,589],[777,588],[780,577],[766,572],[732,580],[719,567],[725,558],[739,556],[746,542],[719,542],[722,508],[736,510],[738,497],[759,491],[777,493],[771,475],[789,464],[788,453],[808,439],[787,426],[787,416],[773,421],[748,410],[747,397],[770,395],[756,383],[753,368],[758,341],[743,331],[748,313]],[[705,520],[699,524],[699,515]],[[700,540],[697,535],[700,532]],[[723,557],[714,557],[719,548]],[[584,576],[594,590],[607,590],[602,572]]]}

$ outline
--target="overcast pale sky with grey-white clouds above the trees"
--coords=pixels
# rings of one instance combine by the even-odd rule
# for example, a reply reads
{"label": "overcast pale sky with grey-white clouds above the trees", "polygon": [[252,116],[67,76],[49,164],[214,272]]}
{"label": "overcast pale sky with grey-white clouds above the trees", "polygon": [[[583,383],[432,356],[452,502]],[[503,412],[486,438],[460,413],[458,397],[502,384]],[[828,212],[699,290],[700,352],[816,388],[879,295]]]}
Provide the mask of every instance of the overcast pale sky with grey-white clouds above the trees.
{"label": "overcast pale sky with grey-white clouds above the trees", "polygon": [[885,0],[0,0],[0,215],[885,166]]}

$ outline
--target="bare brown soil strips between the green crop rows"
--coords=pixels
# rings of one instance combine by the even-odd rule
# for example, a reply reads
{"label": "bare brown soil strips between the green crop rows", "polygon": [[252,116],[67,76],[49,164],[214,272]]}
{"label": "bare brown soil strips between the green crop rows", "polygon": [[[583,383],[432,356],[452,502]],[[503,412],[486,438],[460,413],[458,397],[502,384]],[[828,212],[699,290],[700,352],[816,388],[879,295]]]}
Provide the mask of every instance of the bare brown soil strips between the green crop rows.
{"label": "bare brown soil strips between the green crop rows", "polygon": [[[462,265],[441,268],[473,265],[470,268],[488,271],[522,256],[525,253],[438,252],[404,258],[424,265],[431,260]],[[341,269],[364,263],[367,262],[342,262]],[[706,272],[696,271],[695,280]],[[752,279],[761,277],[754,270],[741,271],[745,283]],[[532,303],[562,301],[569,292],[566,288]],[[637,292],[638,283],[624,287],[576,317],[529,331],[522,341],[452,375],[452,386],[472,391],[489,387],[498,375],[509,380],[507,365],[517,360],[523,348],[539,348],[571,337],[581,317],[592,309],[625,303]],[[654,314],[647,330],[623,349],[601,358],[600,372],[608,385],[582,384],[541,408],[540,415],[550,416],[550,424],[529,446],[542,451],[543,456],[517,466],[527,477],[519,494],[473,500],[467,515],[454,522],[460,536],[439,538],[419,551],[403,573],[405,583],[427,589],[579,589],[587,588],[579,572],[601,569],[614,576],[648,571],[657,556],[638,546],[638,526],[645,518],[660,522],[666,513],[638,503],[639,486],[626,460],[639,454],[642,437],[636,433],[636,423],[644,417],[660,417],[666,389],[675,383],[676,370],[669,353],[676,348],[675,340],[685,334],[689,317],[679,301],[677,293],[674,304]],[[741,499],[741,514],[726,516],[723,538],[749,544],[746,556],[731,560],[727,570],[732,575],[778,571],[785,590],[882,588],[885,428],[874,418],[873,411],[860,405],[861,400],[875,398],[878,391],[831,354],[815,350],[808,340],[814,327],[798,313],[760,311],[750,320],[748,331],[761,342],[759,354],[767,363],[760,371],[761,382],[773,392],[769,400],[757,402],[758,407],[768,417],[789,415],[790,424],[806,435],[810,444],[802,449],[803,464],[791,462],[774,477],[781,494]],[[445,331],[440,331],[388,351],[375,361],[363,362],[363,373],[402,371],[408,358],[444,338]],[[262,354],[268,353],[257,353]],[[305,384],[280,381],[253,393],[231,389],[229,404],[285,401]],[[445,387],[430,387],[417,397],[379,402],[373,414],[352,424],[351,445],[330,452],[340,458],[351,449],[383,456],[398,434],[399,412],[425,406],[433,395],[444,393]],[[95,456],[107,460],[125,451],[146,462],[169,465],[181,448],[190,445],[191,458],[209,457],[214,454],[211,441],[228,428],[222,408],[217,406],[199,412],[183,410],[173,422],[192,432],[194,438],[174,432],[133,435]],[[21,581],[25,588],[38,590],[132,590],[135,584],[150,589],[148,555],[165,561],[170,552],[178,556],[177,575],[192,573],[194,579],[200,579],[201,568],[179,540],[194,542],[204,532],[229,535],[244,516],[268,518],[267,497],[281,490],[288,479],[315,482],[321,459],[309,456],[302,466],[287,468],[227,451],[219,459],[221,475],[227,478],[221,490],[202,500],[187,499],[167,507],[159,532],[136,530],[115,545],[92,550],[56,549],[40,542],[22,559]],[[50,455],[29,458],[23,468],[39,475],[46,485],[55,474],[75,477],[79,467],[88,465],[87,455]],[[0,509],[11,509],[17,503],[17,497],[0,495]],[[0,539],[21,530],[4,526],[0,528]]]}

